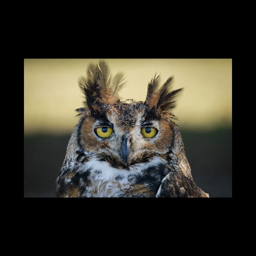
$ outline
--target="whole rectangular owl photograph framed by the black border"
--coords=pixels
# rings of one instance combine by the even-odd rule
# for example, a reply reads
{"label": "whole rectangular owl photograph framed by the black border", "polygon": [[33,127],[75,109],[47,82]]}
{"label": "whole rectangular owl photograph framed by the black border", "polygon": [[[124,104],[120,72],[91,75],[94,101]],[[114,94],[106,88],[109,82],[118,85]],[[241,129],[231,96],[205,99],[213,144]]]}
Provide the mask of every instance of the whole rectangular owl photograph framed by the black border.
{"label": "whole rectangular owl photograph framed by the black border", "polygon": [[24,197],[232,197],[232,59],[24,59]]}

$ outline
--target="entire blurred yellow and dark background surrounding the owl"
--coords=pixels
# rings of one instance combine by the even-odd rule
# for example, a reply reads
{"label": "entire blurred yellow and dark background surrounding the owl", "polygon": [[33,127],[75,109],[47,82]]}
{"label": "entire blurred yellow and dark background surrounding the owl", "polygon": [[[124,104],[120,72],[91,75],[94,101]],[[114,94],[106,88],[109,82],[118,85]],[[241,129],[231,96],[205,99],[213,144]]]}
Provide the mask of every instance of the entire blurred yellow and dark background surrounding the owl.
{"label": "entire blurred yellow and dark background surrounding the owl", "polygon": [[[54,197],[82,107],[78,78],[99,59],[24,59],[24,197]],[[106,59],[123,100],[145,100],[154,74],[184,87],[174,114],[192,175],[210,197],[232,197],[232,59]]]}

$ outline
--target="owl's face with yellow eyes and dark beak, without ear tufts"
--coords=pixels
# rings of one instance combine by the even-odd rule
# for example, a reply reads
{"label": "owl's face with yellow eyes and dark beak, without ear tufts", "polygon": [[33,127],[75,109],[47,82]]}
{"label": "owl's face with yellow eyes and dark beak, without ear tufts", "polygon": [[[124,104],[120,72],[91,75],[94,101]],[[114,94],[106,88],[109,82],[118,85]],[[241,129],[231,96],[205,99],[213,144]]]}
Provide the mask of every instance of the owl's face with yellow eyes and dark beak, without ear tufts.
{"label": "owl's face with yellow eyes and dark beak, without ear tufts", "polygon": [[90,149],[90,156],[120,169],[156,156],[166,159],[173,135],[170,119],[157,118],[141,102],[102,104],[94,114],[87,111],[80,125],[80,145]]}

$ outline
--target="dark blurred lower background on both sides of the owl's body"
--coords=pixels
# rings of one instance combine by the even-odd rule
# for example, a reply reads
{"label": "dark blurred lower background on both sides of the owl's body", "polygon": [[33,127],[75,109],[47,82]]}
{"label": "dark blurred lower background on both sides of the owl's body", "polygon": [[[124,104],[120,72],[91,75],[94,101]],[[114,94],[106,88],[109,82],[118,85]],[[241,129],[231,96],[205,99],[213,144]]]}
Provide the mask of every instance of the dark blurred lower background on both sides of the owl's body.
{"label": "dark blurred lower background on both sides of the owl's body", "polygon": [[[24,136],[24,197],[54,197],[71,133]],[[196,184],[210,197],[232,197],[232,129],[181,130]]]}

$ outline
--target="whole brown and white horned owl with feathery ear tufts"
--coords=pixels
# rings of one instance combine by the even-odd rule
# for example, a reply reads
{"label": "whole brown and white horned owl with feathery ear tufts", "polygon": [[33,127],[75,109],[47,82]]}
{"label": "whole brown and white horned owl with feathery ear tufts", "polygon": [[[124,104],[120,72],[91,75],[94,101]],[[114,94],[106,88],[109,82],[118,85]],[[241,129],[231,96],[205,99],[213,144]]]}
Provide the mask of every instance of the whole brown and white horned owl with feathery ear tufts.
{"label": "whole brown and white horned owl with feathery ear tufts", "polygon": [[209,197],[194,182],[172,113],[173,77],[148,84],[145,101],[121,101],[124,74],[105,61],[79,80],[79,121],[56,179],[57,197]]}

